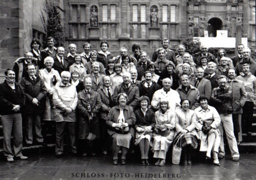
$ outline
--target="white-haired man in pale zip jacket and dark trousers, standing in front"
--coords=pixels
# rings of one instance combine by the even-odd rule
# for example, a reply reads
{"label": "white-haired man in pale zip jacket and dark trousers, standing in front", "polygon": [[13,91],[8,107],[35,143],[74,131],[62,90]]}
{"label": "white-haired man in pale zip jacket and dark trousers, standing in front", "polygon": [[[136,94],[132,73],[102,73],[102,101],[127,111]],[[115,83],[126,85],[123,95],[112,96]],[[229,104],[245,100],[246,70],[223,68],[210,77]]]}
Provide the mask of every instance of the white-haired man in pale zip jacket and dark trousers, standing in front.
{"label": "white-haired man in pale zip jacket and dark trousers, standing in front", "polygon": [[71,74],[68,71],[61,73],[61,82],[57,83],[53,91],[53,104],[56,122],[55,155],[60,158],[63,155],[64,131],[67,126],[69,131],[71,152],[76,154],[75,125],[77,92],[76,87],[70,83]]}

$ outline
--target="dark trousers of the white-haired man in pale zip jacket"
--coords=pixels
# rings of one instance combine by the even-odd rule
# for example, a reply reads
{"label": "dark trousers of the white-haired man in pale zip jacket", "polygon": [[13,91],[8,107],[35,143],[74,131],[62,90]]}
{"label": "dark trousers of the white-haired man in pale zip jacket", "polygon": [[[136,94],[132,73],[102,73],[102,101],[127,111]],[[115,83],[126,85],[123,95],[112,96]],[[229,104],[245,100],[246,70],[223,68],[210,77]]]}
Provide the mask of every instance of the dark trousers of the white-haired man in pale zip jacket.
{"label": "dark trousers of the white-haired man in pale zip jacket", "polygon": [[76,153],[76,146],[75,146],[75,126],[76,122],[56,122],[56,145],[55,145],[55,154],[62,154],[63,153],[63,144],[64,144],[64,132],[65,127],[67,126],[69,131],[69,138],[70,138],[70,146],[71,151]]}

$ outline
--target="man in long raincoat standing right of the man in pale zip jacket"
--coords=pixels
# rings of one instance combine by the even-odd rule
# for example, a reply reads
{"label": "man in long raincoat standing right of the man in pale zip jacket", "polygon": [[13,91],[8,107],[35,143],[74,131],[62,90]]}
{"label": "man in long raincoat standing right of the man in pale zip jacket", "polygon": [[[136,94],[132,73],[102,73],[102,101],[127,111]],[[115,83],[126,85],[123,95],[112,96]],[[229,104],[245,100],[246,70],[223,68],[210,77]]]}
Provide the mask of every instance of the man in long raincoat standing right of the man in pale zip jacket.
{"label": "man in long raincoat standing right of the man in pale zip jacket", "polygon": [[99,93],[92,89],[92,79],[90,77],[84,79],[84,89],[78,93],[78,139],[79,144],[83,144],[82,156],[88,153],[96,155],[99,150],[99,120],[98,111],[101,106]]}

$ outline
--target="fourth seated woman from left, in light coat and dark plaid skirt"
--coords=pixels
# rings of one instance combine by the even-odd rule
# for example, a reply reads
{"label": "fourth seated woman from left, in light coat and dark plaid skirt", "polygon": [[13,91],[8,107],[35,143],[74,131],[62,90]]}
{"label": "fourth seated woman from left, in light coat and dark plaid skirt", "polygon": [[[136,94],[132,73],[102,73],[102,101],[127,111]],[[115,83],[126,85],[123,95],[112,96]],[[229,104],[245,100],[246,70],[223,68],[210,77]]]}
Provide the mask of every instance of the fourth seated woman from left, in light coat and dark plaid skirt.
{"label": "fourth seated woman from left, in light coat and dark plaid skirt", "polygon": [[[193,149],[197,149],[197,139],[199,138],[196,131],[196,113],[194,110],[189,109],[189,101],[187,99],[181,101],[181,108],[176,108],[175,113],[175,129],[178,135],[181,135],[181,147],[183,152],[183,164],[190,165],[191,154]],[[176,137],[174,142],[179,138]]]}

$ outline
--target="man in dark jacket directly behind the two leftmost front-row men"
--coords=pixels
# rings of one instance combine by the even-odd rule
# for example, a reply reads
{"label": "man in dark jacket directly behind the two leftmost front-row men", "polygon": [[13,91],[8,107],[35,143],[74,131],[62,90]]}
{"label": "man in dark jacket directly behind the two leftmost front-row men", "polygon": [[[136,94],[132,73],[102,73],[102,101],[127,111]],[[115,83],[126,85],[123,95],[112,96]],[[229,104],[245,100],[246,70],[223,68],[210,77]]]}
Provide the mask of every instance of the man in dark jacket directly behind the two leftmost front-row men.
{"label": "man in dark jacket directly behind the two leftmost front-row men", "polygon": [[[24,54],[24,57],[18,58],[16,61],[14,61],[13,71],[15,72],[15,81],[20,82],[23,77],[28,76],[27,72],[27,66],[28,64],[37,64],[37,59],[33,57],[33,54],[31,52],[26,52]],[[38,67],[36,65],[36,72],[38,70]]]}

